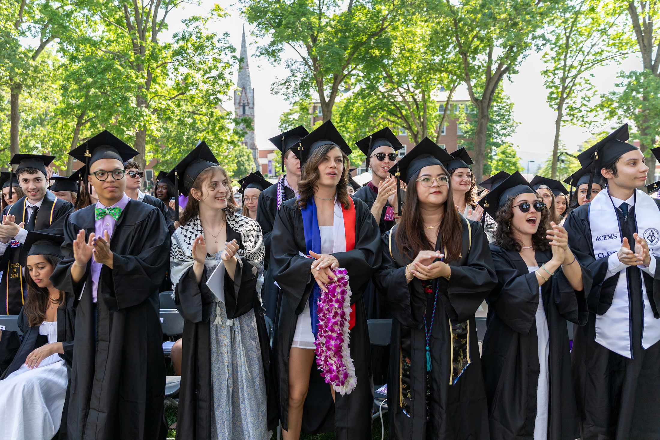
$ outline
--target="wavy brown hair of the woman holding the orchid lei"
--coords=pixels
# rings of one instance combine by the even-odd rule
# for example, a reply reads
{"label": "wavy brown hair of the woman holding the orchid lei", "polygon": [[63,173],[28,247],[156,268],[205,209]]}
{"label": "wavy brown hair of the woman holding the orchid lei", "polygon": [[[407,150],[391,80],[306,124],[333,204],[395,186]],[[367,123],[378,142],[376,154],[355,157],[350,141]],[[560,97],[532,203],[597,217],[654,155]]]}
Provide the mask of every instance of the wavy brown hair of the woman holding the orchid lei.
{"label": "wavy brown hair of the woman holding the orchid lei", "polygon": [[[319,146],[312,152],[312,155],[301,168],[300,181],[298,181],[298,195],[300,195],[300,198],[298,199],[298,206],[301,208],[307,206],[307,202],[311,199],[314,199],[314,191],[317,189],[316,182],[319,181],[320,177],[319,165],[321,164],[323,158],[325,158],[325,155],[333,148],[338,147],[335,144]],[[339,149],[341,150],[341,148]],[[348,185],[349,162],[348,156],[345,154],[345,152],[342,151],[341,156],[344,160],[344,171],[341,173],[341,177],[339,177],[339,183],[337,183],[337,199],[339,199],[339,203],[341,203],[341,206],[343,206],[344,209],[348,209],[350,206],[350,201],[348,201],[348,198],[350,196],[348,195],[348,189],[346,188],[346,185]]]}

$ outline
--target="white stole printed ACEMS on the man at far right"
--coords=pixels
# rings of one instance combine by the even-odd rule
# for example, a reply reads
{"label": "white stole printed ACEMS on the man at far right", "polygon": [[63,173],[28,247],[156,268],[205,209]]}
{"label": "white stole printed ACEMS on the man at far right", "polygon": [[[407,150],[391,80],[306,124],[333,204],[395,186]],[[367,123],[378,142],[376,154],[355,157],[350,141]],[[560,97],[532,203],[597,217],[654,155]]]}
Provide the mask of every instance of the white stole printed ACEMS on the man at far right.
{"label": "white stole printed ACEMS on the man at far right", "polygon": [[[660,210],[653,198],[639,189],[635,190],[634,197],[636,230],[648,243],[651,257],[660,256],[660,232],[658,232]],[[591,243],[595,259],[609,258],[610,255],[618,253],[623,234],[618,223],[616,208],[614,208],[607,188],[598,193],[589,203],[589,226],[591,226]],[[634,249],[635,243],[629,244],[630,248]],[[642,278],[642,270],[633,268],[633,271],[637,273],[635,276],[640,276],[642,280],[642,298],[644,299],[642,346],[649,348],[660,340],[660,320],[653,316],[653,309],[647,296],[644,278]],[[612,305],[603,315],[596,315],[595,341],[612,352],[632,359],[630,301],[626,272],[628,272],[626,269],[619,272]]]}

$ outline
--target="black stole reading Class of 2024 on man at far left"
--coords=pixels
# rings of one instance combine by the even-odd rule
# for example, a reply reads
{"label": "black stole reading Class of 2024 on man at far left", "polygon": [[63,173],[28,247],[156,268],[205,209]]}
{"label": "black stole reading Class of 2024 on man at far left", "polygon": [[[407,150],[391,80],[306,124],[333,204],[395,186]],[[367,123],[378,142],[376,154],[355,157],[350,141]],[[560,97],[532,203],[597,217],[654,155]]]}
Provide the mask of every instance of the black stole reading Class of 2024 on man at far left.
{"label": "black stole reading Class of 2024 on man at far left", "polygon": [[[44,230],[48,229],[51,222],[53,222],[53,211],[55,210],[55,203],[57,202],[57,197],[50,191],[46,191],[44,196],[44,201],[37,212],[37,216],[34,219],[34,230]],[[25,208],[27,206],[27,196],[22,197],[22,199],[16,201],[13,205],[10,206],[7,214],[15,216],[16,224],[24,222],[24,228],[28,229],[28,218],[25,215]],[[24,303],[25,288],[23,285],[23,276],[22,276],[22,267],[19,263],[20,251],[22,250],[23,245],[18,243],[18,241],[11,240],[9,241],[9,249],[6,252],[9,252],[9,261],[7,262],[7,267],[3,268],[5,271],[5,304],[4,304],[4,313],[9,315],[10,311],[20,310]],[[18,312],[16,312],[18,313]]]}

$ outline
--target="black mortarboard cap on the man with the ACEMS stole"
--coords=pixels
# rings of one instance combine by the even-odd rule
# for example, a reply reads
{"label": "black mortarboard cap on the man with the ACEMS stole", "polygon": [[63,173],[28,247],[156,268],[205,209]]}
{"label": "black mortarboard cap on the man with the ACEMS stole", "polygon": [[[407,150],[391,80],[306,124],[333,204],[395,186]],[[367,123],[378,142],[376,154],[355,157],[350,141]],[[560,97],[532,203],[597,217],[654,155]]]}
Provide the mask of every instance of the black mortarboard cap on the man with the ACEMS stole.
{"label": "black mortarboard cap on the man with the ACEMS stole", "polygon": [[600,172],[603,168],[611,166],[623,154],[632,150],[639,150],[633,144],[625,142],[628,139],[630,139],[630,135],[628,135],[628,123],[625,123],[601,139],[601,141],[596,142],[593,146],[578,154],[578,160],[582,168],[587,168],[587,166],[594,164],[593,168],[591,168],[591,175],[589,176],[587,199],[591,199],[591,183],[593,183],[596,172]]}

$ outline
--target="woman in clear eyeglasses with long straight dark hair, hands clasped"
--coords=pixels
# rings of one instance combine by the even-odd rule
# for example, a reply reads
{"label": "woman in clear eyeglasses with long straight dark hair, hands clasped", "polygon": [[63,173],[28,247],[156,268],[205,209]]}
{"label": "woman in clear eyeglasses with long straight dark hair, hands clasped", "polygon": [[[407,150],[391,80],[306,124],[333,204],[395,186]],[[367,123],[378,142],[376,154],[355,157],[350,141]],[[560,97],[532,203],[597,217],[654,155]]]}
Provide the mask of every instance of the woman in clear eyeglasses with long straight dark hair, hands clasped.
{"label": "woman in clear eyeglasses with long straight dark hair, hands clasped", "polygon": [[481,225],[453,205],[447,160],[424,138],[390,170],[408,183],[374,276],[393,317],[390,439],[488,439],[475,312],[495,272]]}

